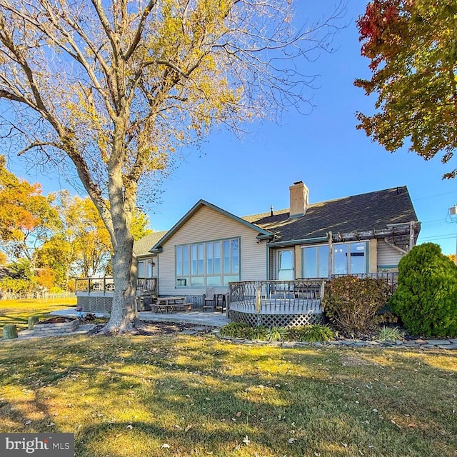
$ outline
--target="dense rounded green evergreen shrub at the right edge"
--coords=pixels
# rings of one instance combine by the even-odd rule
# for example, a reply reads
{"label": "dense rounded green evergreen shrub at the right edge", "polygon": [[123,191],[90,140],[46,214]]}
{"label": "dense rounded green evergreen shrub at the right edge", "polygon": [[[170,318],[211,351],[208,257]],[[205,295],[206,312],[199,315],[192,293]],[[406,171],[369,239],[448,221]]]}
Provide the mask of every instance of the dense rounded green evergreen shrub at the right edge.
{"label": "dense rounded green evergreen shrub at the right edge", "polygon": [[434,243],[414,246],[398,263],[391,308],[408,331],[457,335],[457,266]]}

